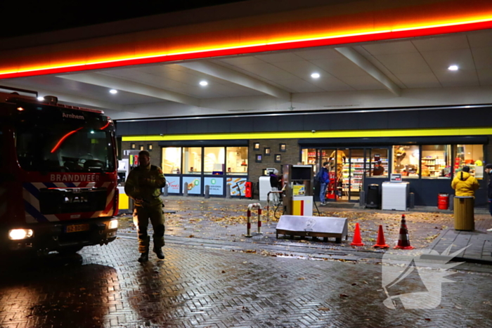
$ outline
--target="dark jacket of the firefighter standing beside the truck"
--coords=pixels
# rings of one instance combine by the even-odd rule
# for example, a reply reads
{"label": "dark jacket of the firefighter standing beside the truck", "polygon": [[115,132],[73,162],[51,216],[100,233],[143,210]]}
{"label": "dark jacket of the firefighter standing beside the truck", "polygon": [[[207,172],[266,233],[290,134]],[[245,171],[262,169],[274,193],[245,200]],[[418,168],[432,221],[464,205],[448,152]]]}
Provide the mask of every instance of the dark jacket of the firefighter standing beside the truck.
{"label": "dark jacket of the firefighter standing beside the truck", "polygon": [[159,166],[137,166],[130,171],[124,184],[124,192],[136,200],[135,206],[154,206],[162,204],[159,198],[166,178]]}

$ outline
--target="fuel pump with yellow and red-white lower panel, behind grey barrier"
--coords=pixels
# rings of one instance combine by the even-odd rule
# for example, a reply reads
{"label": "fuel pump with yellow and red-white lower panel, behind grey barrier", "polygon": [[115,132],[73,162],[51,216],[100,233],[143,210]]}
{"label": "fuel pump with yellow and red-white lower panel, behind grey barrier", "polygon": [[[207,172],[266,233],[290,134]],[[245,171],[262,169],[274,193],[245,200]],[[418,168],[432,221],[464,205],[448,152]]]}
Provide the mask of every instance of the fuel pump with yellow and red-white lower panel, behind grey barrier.
{"label": "fuel pump with yellow and red-white lower panel, behind grey barrier", "polygon": [[283,206],[285,215],[313,215],[313,166],[283,166]]}

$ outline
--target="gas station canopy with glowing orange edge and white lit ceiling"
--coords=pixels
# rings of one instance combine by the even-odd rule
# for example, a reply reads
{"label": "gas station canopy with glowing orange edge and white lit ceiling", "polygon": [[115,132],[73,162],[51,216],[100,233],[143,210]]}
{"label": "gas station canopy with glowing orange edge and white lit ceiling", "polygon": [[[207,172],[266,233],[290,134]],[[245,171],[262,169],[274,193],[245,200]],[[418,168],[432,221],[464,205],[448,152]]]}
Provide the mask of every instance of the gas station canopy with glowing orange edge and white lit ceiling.
{"label": "gas station canopy with glowing orange edge and white lit ceiling", "polygon": [[491,1],[252,0],[2,41],[0,85],[114,119],[492,103]]}

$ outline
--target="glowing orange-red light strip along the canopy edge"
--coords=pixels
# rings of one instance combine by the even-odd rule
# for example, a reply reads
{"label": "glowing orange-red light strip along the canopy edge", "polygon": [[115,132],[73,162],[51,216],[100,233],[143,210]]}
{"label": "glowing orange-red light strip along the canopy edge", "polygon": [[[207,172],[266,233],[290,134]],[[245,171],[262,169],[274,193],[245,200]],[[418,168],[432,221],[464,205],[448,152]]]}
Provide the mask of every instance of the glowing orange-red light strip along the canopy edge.
{"label": "glowing orange-red light strip along the canopy edge", "polygon": [[32,67],[21,70],[0,71],[0,79],[13,77],[29,77],[43,74],[59,74],[66,72],[79,72],[84,70],[100,70],[110,67],[123,67],[128,65],[141,65],[152,63],[165,63],[175,60],[191,60],[201,58],[213,58],[226,55],[244,55],[261,53],[266,51],[280,51],[316,46],[333,46],[352,44],[367,41],[382,41],[402,39],[409,37],[425,37],[438,34],[450,34],[469,32],[480,29],[492,28],[492,15],[487,17],[469,18],[467,20],[453,22],[439,22],[439,24],[401,26],[394,29],[381,29],[371,31],[354,31],[353,33],[328,34],[321,36],[306,36],[302,38],[283,38],[257,44],[231,44],[228,46],[198,48],[190,51],[169,53],[155,53],[151,55],[136,55],[124,58],[109,58],[107,60],[94,60],[87,63],[73,63],[67,65],[51,65]]}

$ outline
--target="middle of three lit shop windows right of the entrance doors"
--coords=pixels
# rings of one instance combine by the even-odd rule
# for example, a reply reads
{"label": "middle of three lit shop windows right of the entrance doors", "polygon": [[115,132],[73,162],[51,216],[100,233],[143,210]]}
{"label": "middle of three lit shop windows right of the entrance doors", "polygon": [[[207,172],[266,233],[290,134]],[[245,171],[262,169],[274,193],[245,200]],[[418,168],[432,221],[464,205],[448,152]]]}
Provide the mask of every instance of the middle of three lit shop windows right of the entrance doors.
{"label": "middle of three lit shop windows right of the entrance doors", "polygon": [[422,145],[422,178],[451,178],[451,146]]}

